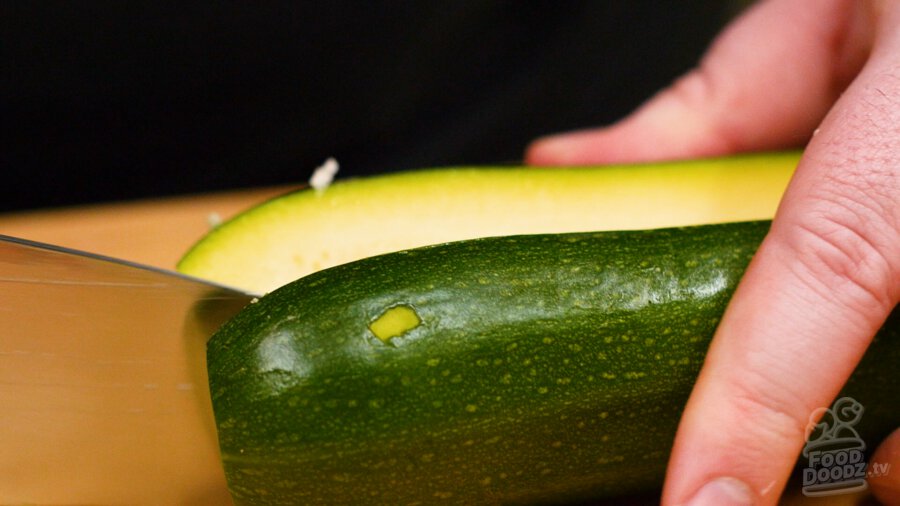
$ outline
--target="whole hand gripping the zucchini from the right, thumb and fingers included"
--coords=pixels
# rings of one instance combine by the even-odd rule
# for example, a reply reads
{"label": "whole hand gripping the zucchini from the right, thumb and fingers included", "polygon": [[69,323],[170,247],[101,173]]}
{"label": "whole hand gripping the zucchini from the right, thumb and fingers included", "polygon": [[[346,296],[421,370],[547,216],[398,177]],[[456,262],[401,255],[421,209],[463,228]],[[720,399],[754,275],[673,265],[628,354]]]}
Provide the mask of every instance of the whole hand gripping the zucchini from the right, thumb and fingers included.
{"label": "whole hand gripping the zucchini from the right, thumb and fingers included", "polygon": [[[532,164],[613,163],[807,141],[687,404],[665,504],[776,504],[809,414],[900,300],[900,2],[757,4],[630,117],[527,152]],[[871,461],[890,459],[869,484],[900,504],[900,431]]]}

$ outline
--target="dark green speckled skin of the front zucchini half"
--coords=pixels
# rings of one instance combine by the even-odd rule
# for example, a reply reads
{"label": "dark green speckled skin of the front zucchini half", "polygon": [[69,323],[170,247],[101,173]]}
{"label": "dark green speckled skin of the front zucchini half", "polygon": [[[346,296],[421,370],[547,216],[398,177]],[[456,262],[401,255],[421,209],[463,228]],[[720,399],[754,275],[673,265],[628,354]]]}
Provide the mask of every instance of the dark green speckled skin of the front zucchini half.
{"label": "dark green speckled skin of the front zucchini half", "polygon": [[[208,345],[236,502],[557,503],[659,487],[768,227],[461,241],[272,292]],[[385,342],[369,325],[397,305],[420,322]],[[900,418],[896,313],[845,391],[866,408],[864,437]]]}

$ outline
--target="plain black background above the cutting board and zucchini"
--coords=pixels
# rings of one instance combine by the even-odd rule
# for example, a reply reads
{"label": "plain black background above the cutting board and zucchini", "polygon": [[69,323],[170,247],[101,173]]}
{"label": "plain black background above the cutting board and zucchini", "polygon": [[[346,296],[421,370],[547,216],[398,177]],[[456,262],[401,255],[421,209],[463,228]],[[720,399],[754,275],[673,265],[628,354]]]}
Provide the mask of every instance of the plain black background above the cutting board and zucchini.
{"label": "plain black background above the cutting board and zucchini", "polygon": [[728,1],[4,2],[0,211],[512,162],[693,66]]}

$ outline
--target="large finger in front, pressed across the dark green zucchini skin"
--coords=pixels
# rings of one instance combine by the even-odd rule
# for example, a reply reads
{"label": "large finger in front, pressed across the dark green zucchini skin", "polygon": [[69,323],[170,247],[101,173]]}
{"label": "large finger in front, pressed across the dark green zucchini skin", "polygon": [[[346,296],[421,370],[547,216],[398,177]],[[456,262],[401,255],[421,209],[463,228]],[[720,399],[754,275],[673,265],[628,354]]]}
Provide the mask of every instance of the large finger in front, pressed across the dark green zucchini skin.
{"label": "large finger in front, pressed across the dark green zucchini skin", "polygon": [[900,299],[900,4],[885,5],[868,63],[807,147],[719,326],[666,504],[775,504],[810,413]]}

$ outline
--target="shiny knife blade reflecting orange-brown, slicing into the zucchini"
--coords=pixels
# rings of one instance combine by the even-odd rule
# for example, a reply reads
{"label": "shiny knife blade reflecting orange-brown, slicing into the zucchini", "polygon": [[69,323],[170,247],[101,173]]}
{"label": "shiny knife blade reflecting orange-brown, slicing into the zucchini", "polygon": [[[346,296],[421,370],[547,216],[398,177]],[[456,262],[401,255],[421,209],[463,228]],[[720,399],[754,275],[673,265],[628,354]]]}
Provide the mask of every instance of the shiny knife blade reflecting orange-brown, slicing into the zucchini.
{"label": "shiny knife blade reflecting orange-brown, slicing into the zucchini", "polygon": [[0,504],[230,504],[206,340],[251,299],[0,235]]}

